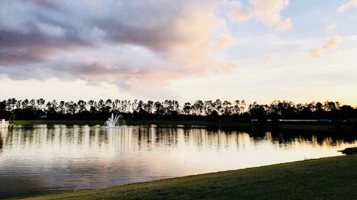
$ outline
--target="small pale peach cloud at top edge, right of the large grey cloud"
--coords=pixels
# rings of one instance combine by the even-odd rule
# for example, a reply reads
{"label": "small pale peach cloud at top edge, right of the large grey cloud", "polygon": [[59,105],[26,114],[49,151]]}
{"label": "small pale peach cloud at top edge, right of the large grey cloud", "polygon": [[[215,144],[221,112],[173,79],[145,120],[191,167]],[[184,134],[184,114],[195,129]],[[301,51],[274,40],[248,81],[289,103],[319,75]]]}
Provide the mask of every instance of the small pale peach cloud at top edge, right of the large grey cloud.
{"label": "small pale peach cloud at top edge, right of the large grey cloud", "polygon": [[228,11],[228,18],[233,22],[245,22],[256,18],[276,31],[287,31],[293,23],[290,18],[281,19],[280,12],[288,6],[288,0],[249,0],[249,6],[239,1],[222,1],[221,7]]}

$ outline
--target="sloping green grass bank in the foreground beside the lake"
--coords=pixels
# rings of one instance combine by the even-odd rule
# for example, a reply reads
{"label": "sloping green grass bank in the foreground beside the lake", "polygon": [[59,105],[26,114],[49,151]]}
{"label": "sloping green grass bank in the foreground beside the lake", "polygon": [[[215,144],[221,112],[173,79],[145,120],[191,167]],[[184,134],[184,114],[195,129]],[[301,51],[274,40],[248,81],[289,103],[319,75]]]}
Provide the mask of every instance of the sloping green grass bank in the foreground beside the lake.
{"label": "sloping green grass bank in the foreground beside the lake", "polygon": [[32,199],[356,199],[357,155],[311,159]]}

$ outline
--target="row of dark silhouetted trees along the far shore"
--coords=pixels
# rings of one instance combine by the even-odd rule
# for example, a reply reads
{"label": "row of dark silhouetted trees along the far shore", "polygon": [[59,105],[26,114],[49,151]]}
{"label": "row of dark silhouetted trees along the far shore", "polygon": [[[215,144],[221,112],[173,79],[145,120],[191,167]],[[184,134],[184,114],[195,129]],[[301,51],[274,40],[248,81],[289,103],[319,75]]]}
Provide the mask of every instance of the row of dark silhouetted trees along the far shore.
{"label": "row of dark silhouetted trees along the far shore", "polygon": [[270,105],[244,100],[196,100],[179,105],[177,100],[163,102],[149,100],[84,100],[47,101],[16,100],[0,102],[0,117],[16,120],[106,120],[111,113],[123,115],[126,120],[212,120],[248,122],[251,119],[331,119],[356,118],[357,107],[326,101],[294,104],[291,101],[273,101]]}

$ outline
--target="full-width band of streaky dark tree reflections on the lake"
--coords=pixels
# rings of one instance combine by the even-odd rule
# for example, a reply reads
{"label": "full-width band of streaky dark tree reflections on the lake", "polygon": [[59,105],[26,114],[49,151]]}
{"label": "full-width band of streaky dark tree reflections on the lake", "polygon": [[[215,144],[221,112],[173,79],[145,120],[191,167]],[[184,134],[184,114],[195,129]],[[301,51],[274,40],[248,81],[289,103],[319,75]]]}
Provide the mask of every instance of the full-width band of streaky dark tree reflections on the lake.
{"label": "full-width band of streaky dark tree reflections on the lake", "polygon": [[[297,144],[318,146],[340,146],[346,140],[333,136],[301,134],[299,132],[246,132],[206,130],[202,128],[172,127],[126,127],[103,129],[88,126],[59,125],[53,128],[13,128],[1,130],[0,149],[6,148],[67,148],[107,149],[129,152],[135,149],[177,148],[186,145],[201,148],[243,149],[263,143],[289,148]],[[349,143],[356,142],[351,140]],[[96,151],[94,151],[96,152]]]}

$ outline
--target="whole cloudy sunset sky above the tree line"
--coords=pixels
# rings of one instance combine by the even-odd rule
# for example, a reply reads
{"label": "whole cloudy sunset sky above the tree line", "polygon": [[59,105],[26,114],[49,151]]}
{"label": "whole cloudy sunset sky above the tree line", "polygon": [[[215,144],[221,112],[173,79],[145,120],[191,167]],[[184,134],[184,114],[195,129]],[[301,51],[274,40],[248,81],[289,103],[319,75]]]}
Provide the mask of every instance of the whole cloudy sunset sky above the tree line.
{"label": "whole cloudy sunset sky above the tree line", "polygon": [[357,106],[357,0],[1,0],[0,99]]}

